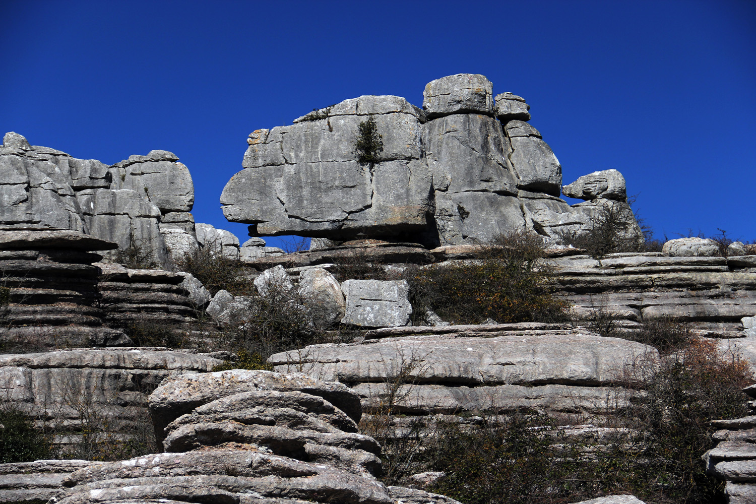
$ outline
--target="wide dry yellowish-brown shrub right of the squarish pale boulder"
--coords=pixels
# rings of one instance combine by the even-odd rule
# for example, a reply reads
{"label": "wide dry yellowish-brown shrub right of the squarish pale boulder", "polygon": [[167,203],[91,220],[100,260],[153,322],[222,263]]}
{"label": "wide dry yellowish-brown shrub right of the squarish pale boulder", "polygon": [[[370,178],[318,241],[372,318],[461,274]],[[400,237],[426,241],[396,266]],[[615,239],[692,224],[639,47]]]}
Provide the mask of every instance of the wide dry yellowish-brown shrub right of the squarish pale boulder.
{"label": "wide dry yellowish-brown shrub right of the squarish pale boulder", "polygon": [[567,304],[552,296],[553,274],[541,237],[516,231],[491,240],[477,261],[407,267],[404,277],[414,317],[432,310],[453,323],[510,323],[565,320]]}

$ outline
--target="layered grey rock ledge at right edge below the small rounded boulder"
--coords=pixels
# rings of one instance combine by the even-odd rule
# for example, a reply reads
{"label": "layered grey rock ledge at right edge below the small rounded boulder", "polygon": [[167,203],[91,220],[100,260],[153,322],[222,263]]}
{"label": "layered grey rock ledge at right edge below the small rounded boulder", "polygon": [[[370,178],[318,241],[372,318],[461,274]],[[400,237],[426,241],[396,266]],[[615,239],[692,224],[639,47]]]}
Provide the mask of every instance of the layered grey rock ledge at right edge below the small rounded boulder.
{"label": "layered grey rock ledge at right edge below the small rounded boulder", "polygon": [[704,335],[741,337],[756,315],[756,255],[671,256],[664,252],[554,258],[556,289],[579,316],[596,310],[631,328],[652,317],[691,323]]}

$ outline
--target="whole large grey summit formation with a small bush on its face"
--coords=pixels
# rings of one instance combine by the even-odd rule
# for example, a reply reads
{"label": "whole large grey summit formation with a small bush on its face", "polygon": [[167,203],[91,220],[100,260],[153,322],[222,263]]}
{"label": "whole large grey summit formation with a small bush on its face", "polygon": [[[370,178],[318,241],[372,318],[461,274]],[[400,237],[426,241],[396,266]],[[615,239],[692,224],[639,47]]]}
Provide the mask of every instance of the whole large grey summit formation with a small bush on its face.
{"label": "whole large grey summit formation with a small bush on its face", "polygon": [[[438,246],[522,228],[557,241],[562,228],[584,232],[603,207],[559,199],[562,167],[523,122],[530,107],[511,93],[494,100],[492,88],[485,76],[457,74],[426,85],[423,110],[401,97],[362,96],[253,131],[243,171],[221,196],[224,214],[251,224],[253,237],[331,242],[412,237]],[[383,150],[361,164],[355,144],[370,118]]]}

